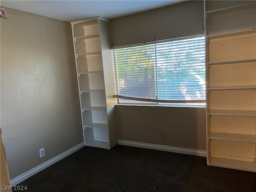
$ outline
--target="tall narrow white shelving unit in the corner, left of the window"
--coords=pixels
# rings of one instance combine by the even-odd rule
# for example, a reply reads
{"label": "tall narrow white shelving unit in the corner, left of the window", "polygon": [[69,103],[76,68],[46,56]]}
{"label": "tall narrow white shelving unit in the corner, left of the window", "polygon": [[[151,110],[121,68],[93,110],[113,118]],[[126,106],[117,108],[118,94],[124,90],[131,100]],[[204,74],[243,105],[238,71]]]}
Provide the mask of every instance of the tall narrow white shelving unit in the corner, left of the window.
{"label": "tall narrow white shelving unit in the corner, left of the window", "polygon": [[108,20],[72,23],[84,142],[110,149],[117,144],[114,73],[110,62]]}

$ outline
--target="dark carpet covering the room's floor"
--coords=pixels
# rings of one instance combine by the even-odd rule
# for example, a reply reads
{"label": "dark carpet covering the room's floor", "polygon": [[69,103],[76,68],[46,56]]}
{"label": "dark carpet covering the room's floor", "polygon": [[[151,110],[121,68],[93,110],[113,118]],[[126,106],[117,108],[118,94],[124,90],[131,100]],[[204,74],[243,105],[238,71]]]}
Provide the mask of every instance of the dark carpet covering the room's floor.
{"label": "dark carpet covering the room's floor", "polygon": [[18,185],[27,192],[256,192],[256,173],[207,166],[198,156],[86,146]]}

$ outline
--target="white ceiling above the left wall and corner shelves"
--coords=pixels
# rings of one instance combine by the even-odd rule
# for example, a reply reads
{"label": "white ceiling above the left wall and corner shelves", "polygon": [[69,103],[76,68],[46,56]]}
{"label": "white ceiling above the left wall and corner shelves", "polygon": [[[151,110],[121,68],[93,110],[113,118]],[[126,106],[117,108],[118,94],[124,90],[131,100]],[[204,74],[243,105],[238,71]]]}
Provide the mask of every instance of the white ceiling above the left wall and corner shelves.
{"label": "white ceiling above the left wall and corner shelves", "polygon": [[0,0],[0,5],[73,22],[96,16],[113,19],[180,2],[184,0]]}

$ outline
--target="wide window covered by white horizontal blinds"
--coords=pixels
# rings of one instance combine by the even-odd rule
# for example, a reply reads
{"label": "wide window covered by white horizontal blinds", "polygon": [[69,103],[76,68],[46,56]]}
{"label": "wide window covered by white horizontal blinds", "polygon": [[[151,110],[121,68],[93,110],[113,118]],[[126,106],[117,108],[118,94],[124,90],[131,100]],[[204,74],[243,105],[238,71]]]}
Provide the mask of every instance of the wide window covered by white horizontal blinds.
{"label": "wide window covered by white horizontal blinds", "polygon": [[112,50],[119,102],[205,103],[204,37]]}

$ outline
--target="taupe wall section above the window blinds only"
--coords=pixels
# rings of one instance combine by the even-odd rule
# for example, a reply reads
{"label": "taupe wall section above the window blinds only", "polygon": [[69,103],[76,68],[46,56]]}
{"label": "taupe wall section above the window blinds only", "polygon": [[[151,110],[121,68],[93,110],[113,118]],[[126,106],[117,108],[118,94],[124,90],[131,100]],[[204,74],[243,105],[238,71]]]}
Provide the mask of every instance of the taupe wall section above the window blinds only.
{"label": "taupe wall section above the window blinds only", "polygon": [[184,3],[110,20],[113,46],[204,34],[204,1]]}

